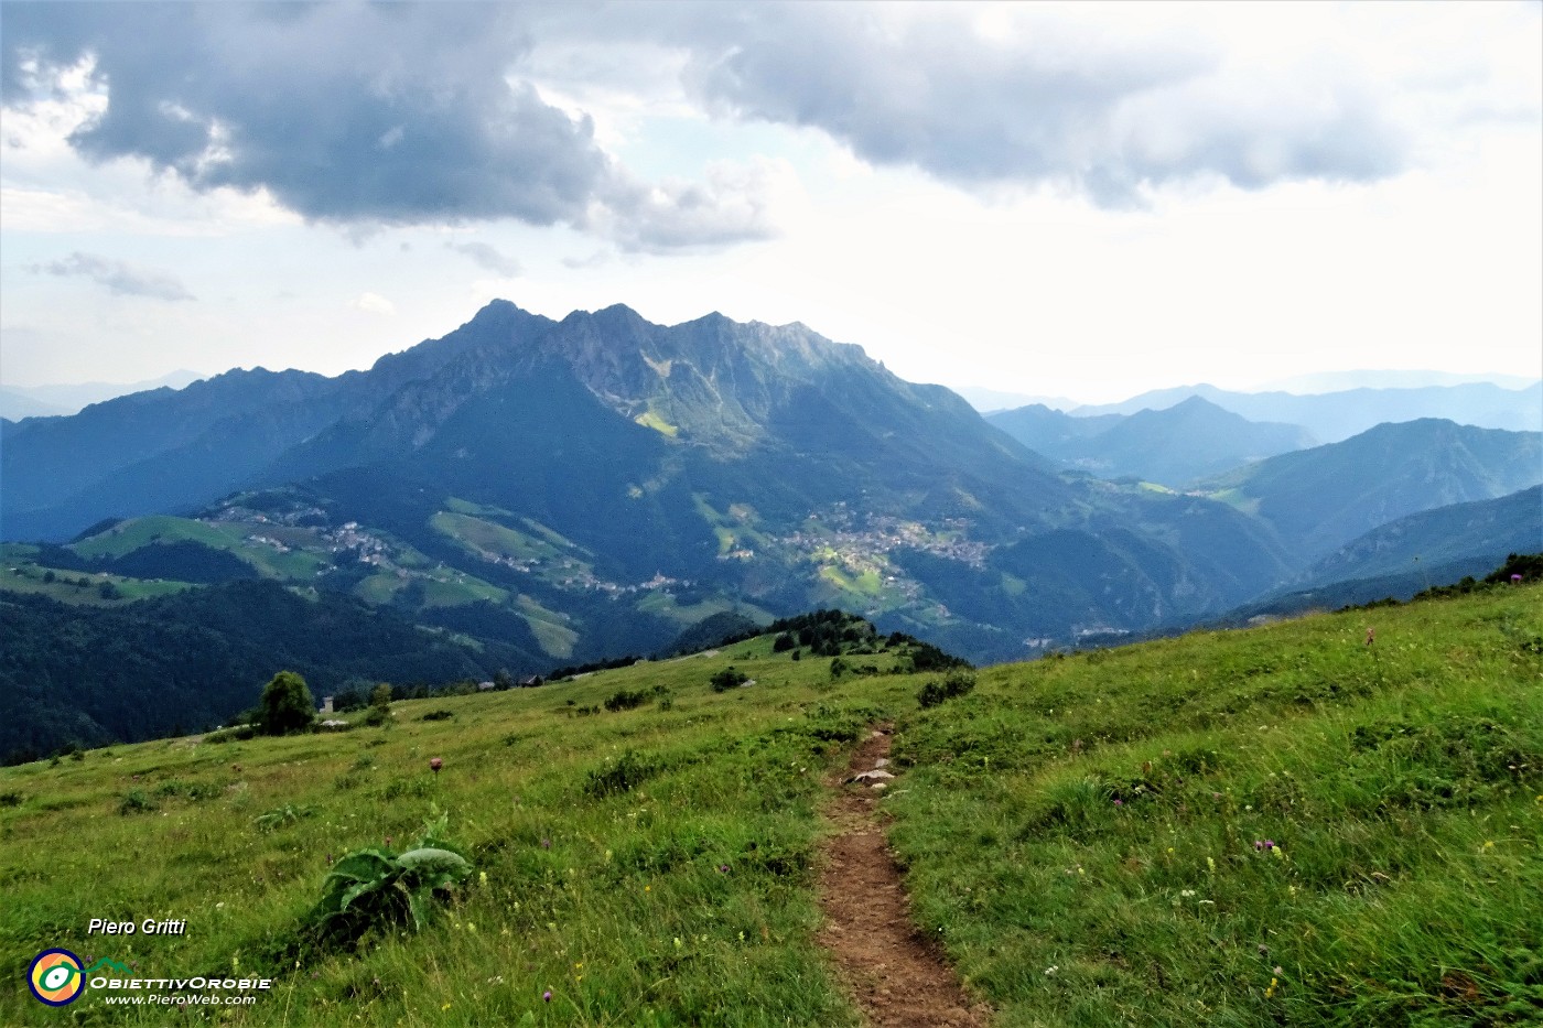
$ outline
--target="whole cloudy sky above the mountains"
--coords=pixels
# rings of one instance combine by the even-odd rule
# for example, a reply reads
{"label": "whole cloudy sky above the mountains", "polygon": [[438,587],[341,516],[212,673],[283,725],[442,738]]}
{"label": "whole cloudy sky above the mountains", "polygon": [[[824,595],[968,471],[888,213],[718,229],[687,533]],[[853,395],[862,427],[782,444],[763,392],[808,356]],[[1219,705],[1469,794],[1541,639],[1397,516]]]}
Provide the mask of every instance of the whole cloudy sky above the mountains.
{"label": "whole cloudy sky above the mountains", "polygon": [[494,298],[1099,403],[1543,374],[1540,3],[0,3],[0,384]]}

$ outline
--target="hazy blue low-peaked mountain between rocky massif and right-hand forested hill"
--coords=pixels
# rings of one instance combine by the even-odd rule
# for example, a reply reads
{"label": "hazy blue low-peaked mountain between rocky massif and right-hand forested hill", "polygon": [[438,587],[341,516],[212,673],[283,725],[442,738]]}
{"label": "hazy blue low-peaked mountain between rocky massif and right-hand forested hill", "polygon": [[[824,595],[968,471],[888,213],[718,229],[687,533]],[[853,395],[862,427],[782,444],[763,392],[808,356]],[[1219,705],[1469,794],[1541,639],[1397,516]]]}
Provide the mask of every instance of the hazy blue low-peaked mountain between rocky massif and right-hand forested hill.
{"label": "hazy blue low-peaked mountain between rocky massif and right-hand forested hill", "polygon": [[1136,475],[1174,488],[1316,445],[1304,428],[1248,421],[1200,397],[1131,415],[1072,417],[1031,406],[991,414],[986,420],[1029,449],[1072,468],[1103,478]]}

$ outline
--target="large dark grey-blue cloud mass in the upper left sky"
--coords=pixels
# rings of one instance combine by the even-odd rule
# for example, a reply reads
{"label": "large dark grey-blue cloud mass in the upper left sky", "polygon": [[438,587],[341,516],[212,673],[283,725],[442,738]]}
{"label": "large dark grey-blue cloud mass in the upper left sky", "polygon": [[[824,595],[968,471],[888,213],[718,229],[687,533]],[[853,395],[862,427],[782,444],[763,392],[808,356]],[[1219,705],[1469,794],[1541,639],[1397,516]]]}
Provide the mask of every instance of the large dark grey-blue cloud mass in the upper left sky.
{"label": "large dark grey-blue cloud mass in the upper left sky", "polygon": [[[6,5],[8,103],[89,57],[100,117],[71,136],[94,161],[140,157],[193,188],[265,188],[313,221],[580,228],[599,215],[656,245],[656,193],[586,116],[517,74],[531,42],[511,5]],[[759,238],[738,213],[707,236]],[[697,239],[685,244],[699,242]]]}

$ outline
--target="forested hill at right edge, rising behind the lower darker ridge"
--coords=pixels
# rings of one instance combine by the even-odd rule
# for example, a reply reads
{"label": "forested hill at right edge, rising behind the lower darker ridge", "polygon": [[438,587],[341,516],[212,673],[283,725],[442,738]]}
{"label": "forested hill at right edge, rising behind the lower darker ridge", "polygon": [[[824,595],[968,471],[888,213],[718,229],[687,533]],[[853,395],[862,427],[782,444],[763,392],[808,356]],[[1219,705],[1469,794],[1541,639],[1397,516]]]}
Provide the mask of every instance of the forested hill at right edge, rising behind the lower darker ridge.
{"label": "forested hill at right edge, rising behind the lower darker ridge", "polygon": [[1268,522],[1301,560],[1420,511],[1543,482],[1543,434],[1423,418],[1282,454],[1205,488]]}

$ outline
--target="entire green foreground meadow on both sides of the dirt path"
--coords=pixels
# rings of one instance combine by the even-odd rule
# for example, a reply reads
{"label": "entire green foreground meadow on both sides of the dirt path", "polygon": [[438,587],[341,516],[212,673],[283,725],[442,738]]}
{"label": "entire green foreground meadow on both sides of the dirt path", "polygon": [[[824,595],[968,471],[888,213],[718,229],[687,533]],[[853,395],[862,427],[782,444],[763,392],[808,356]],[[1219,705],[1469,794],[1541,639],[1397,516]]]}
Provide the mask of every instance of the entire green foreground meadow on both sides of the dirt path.
{"label": "entire green foreground meadow on both sides of the dirt path", "polygon": [[[826,779],[881,721],[915,921],[997,1025],[1538,1023],[1540,599],[1001,665],[926,707],[943,675],[892,673],[903,647],[833,673],[762,636],[376,727],[3,769],[0,1023],[858,1025],[815,881]],[[730,665],[751,682],[714,692]],[[307,931],[336,861],[440,817],[471,874],[421,929]],[[273,988],[51,1009],[25,977],[56,946]]]}

